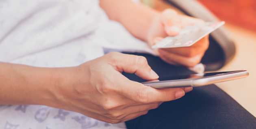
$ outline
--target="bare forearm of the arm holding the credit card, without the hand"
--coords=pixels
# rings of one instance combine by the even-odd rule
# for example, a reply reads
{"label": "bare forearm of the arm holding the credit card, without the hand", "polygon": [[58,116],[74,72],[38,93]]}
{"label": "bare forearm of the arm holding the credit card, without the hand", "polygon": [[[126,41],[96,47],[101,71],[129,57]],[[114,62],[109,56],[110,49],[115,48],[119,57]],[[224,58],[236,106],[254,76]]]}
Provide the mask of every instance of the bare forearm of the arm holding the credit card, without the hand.
{"label": "bare forearm of the arm holding the credit card, without the hand", "polygon": [[100,0],[108,17],[118,21],[135,37],[148,41],[148,31],[158,11],[131,0]]}

